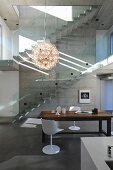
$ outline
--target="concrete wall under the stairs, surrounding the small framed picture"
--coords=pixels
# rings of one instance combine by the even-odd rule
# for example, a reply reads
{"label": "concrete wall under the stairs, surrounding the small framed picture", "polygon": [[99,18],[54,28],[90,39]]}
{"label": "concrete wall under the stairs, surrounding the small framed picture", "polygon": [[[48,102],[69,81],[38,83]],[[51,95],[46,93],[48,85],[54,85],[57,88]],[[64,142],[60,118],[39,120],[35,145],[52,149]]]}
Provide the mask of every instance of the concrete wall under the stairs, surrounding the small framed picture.
{"label": "concrete wall under the stairs, surrounding the small framed picture", "polygon": [[[96,107],[96,78],[92,75],[86,75],[80,77],[78,80],[73,80],[72,84],[65,88],[66,82],[64,82],[64,89],[58,88],[55,99],[49,104],[50,107],[55,109],[56,106],[60,105],[69,109],[71,105],[80,106],[82,110],[92,110]],[[79,103],[79,90],[90,90],[90,103],[81,104]]]}

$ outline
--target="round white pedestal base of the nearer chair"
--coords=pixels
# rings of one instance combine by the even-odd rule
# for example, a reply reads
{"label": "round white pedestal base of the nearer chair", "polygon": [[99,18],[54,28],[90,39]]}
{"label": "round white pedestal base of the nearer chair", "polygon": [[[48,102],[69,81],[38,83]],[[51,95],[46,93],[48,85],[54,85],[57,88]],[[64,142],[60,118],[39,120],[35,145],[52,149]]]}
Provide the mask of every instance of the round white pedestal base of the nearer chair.
{"label": "round white pedestal base of the nearer chair", "polygon": [[47,145],[45,147],[43,147],[42,149],[43,153],[47,154],[47,155],[52,155],[52,154],[57,154],[58,152],[60,152],[60,148],[57,145]]}

